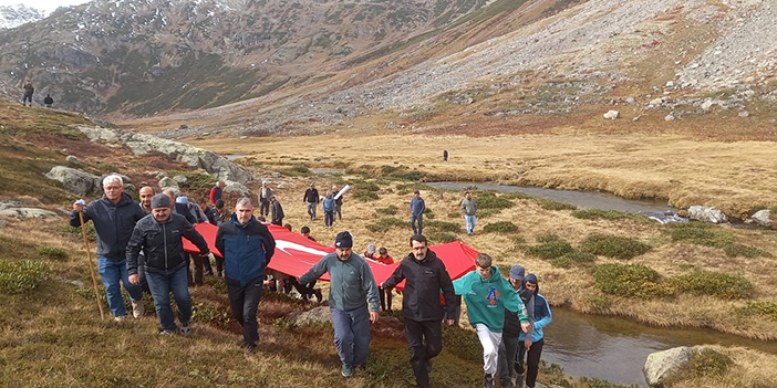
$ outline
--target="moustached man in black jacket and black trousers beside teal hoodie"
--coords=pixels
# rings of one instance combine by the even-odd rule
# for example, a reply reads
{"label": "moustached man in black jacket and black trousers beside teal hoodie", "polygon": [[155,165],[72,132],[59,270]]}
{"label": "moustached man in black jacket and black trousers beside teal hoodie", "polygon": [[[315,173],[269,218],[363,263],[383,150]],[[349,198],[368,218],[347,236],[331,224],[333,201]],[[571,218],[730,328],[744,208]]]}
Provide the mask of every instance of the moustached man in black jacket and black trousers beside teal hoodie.
{"label": "moustached man in black jacket and black trousers beside teal hoodie", "polygon": [[[411,366],[418,387],[429,386],[432,358],[443,350],[441,321],[454,324],[455,310],[453,282],[445,264],[426,247],[426,238],[411,238],[411,253],[402,260],[394,273],[381,284],[381,289],[393,289],[402,280],[405,291],[402,297],[402,315],[405,318],[405,335],[411,354]],[[439,294],[445,298],[441,304]]]}

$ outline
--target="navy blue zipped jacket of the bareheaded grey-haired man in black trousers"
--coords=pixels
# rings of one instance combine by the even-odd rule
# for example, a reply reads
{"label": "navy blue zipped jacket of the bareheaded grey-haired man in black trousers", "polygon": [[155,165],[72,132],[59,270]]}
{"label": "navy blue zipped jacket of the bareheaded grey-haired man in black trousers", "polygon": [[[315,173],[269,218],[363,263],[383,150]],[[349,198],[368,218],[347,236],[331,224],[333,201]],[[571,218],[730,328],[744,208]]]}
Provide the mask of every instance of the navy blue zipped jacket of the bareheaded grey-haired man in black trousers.
{"label": "navy blue zipped jacket of the bareheaded grey-haired man in black trousers", "polygon": [[218,227],[216,248],[224,256],[227,284],[242,287],[265,275],[265,269],[276,253],[276,239],[256,217],[240,224],[235,213]]}

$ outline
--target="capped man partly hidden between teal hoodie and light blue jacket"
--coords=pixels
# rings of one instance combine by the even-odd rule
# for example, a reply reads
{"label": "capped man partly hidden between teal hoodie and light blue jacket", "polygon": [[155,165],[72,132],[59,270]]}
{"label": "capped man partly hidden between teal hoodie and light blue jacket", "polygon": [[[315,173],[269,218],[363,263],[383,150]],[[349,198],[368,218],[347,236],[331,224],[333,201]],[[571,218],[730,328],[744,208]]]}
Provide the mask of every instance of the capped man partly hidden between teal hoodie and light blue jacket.
{"label": "capped man partly hidden between teal hoodie and light blue jacket", "polygon": [[[529,323],[533,325],[535,300],[531,291],[524,286],[524,275],[526,271],[520,265],[510,268],[510,285],[518,293],[526,306]],[[520,321],[518,317],[505,310],[505,328],[501,332],[501,344],[499,345],[499,361],[497,364],[497,376],[503,387],[512,387],[512,369],[518,353],[518,337],[521,335]],[[521,379],[522,381],[522,379]]]}

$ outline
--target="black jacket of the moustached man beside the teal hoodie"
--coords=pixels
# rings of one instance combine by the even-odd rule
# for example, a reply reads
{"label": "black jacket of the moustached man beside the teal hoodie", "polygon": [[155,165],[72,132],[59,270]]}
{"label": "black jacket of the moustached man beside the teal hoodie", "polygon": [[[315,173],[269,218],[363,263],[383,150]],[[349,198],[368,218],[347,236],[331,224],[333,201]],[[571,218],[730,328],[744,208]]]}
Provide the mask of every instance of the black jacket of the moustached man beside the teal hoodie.
{"label": "black jacket of the moustached man beside the teal hoodie", "polygon": [[[403,259],[394,273],[383,282],[383,287],[393,289],[406,280],[402,296],[402,315],[412,321],[441,321],[447,315],[454,318],[457,305],[450,275],[445,263],[428,250],[424,260],[411,253]],[[439,301],[439,294],[445,305]]]}

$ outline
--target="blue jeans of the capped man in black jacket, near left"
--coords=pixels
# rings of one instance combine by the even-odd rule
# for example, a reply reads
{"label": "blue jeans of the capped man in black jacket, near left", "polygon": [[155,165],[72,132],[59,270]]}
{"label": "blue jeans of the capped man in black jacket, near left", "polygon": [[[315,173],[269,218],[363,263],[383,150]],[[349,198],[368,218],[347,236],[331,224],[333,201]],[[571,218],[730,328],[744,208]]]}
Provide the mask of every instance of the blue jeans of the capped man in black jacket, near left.
{"label": "blue jeans of the capped man in black jacket, near left", "polygon": [[189,284],[186,280],[186,266],[169,274],[146,271],[146,279],[162,329],[170,332],[176,329],[173,308],[170,308],[170,292],[178,310],[178,322],[182,326],[187,325],[191,319],[191,296],[189,296]]}

